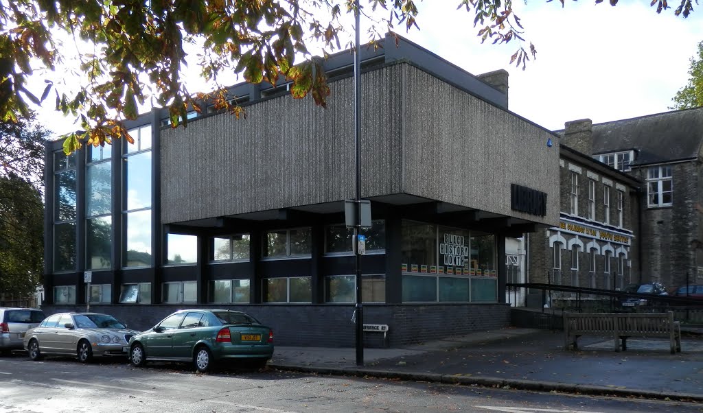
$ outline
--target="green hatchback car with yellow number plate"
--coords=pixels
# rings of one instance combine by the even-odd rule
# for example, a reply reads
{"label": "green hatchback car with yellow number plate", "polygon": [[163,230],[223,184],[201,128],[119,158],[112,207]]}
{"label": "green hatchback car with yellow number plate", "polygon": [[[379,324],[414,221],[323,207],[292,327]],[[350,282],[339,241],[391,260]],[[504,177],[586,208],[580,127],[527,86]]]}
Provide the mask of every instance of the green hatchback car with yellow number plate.
{"label": "green hatchback car with yellow number plate", "polygon": [[231,310],[179,310],[129,340],[129,360],[193,362],[207,372],[215,362],[240,360],[264,367],[273,357],[273,331]]}

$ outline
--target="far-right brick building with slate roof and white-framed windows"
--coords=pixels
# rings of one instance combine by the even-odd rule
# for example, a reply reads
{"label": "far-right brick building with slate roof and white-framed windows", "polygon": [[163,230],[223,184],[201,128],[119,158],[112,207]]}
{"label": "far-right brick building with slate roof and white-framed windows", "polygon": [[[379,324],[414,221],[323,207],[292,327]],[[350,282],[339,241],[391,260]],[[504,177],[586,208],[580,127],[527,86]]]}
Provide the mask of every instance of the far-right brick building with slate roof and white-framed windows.
{"label": "far-right brick building with slate roof and white-framed windows", "polygon": [[562,144],[640,184],[640,272],[670,291],[703,282],[703,107],[592,124],[567,122]]}

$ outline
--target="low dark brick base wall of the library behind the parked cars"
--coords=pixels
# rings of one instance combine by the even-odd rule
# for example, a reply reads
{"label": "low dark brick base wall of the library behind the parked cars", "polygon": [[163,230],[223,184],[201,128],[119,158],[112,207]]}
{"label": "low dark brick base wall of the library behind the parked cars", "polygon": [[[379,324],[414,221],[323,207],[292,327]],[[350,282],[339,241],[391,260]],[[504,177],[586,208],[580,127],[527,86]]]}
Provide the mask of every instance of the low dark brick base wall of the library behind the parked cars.
{"label": "low dark brick base wall of the library behind the parked cars", "polygon": [[[107,313],[130,328],[143,331],[153,327],[170,313],[186,307],[175,306],[91,306],[91,311]],[[256,317],[273,329],[274,342],[281,346],[354,347],[355,329],[352,324],[354,306],[206,306],[198,308],[228,308]],[[84,306],[42,306],[46,315],[63,311],[84,311]],[[450,336],[510,325],[507,304],[447,304],[363,307],[364,323],[389,326],[391,347],[423,343]],[[364,333],[364,345],[383,346],[383,334]]]}

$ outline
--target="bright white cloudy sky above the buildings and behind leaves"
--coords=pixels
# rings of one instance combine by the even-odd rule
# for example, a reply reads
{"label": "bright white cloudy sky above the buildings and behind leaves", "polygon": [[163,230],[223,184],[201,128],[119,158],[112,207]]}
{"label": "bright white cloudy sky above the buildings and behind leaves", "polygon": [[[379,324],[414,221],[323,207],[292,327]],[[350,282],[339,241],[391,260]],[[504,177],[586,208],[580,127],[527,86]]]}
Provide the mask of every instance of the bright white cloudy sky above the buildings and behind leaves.
{"label": "bright white cloudy sky above the buildings and behind leaves", "polygon": [[[559,1],[516,1],[524,48],[531,41],[537,50],[522,70],[509,63],[519,44],[481,44],[472,13],[457,10],[459,2],[418,3],[420,30],[396,32],[472,74],[508,70],[509,109],[550,130],[575,119],[601,123],[668,111],[703,41],[703,10],[684,19],[673,8],[657,14],[646,0],[615,7],[567,0],[564,8]],[[367,26],[362,20],[362,33]],[[192,84],[199,91],[198,81]],[[56,133],[79,129],[52,110],[40,110],[39,119]]]}

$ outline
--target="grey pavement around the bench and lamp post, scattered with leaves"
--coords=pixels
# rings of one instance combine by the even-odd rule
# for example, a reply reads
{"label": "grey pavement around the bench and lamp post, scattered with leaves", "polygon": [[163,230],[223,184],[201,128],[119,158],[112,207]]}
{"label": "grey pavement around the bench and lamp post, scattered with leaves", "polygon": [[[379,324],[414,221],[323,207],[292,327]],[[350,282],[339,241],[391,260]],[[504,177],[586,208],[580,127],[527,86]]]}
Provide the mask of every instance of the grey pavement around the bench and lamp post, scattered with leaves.
{"label": "grey pavement around the bench and lamp post, scattered with leaves", "polygon": [[682,328],[681,353],[668,339],[579,338],[564,349],[561,331],[508,327],[401,348],[276,346],[270,368],[317,374],[371,376],[529,391],[703,402],[703,329]]}

